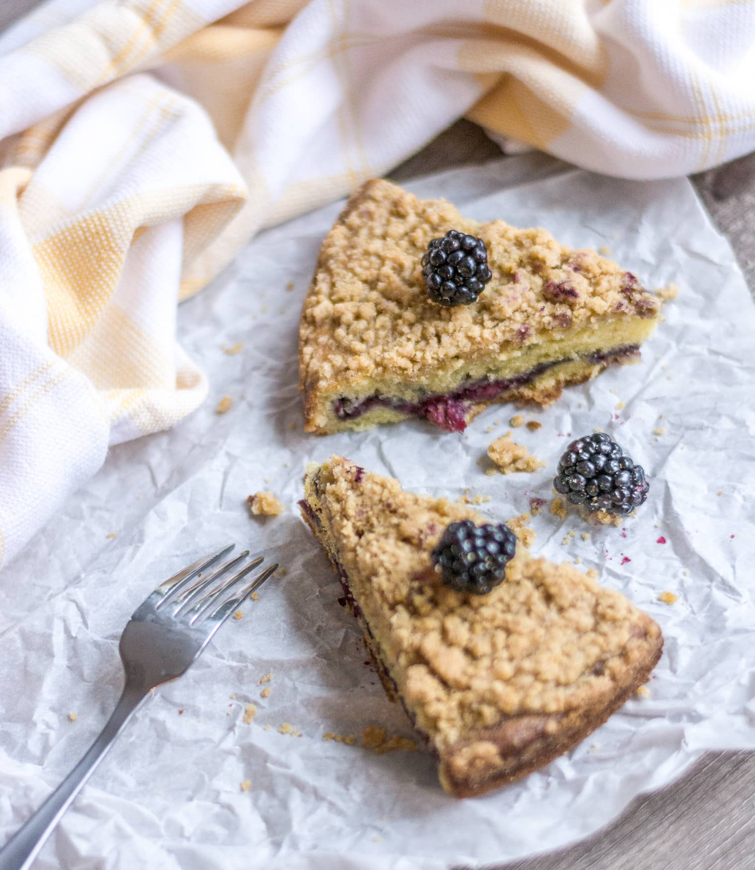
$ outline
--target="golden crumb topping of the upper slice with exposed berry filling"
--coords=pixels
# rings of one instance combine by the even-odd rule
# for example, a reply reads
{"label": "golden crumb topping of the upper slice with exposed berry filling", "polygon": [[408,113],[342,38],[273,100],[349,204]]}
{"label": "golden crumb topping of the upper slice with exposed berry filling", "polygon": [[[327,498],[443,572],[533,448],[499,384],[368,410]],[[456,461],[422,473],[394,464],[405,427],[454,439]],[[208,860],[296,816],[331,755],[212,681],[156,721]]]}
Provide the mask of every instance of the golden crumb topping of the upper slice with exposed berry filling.
{"label": "golden crumb topping of the upper slice with exposed berry filling", "polygon": [[[493,278],[478,302],[427,298],[421,258],[448,229],[482,238]],[[462,218],[444,200],[418,200],[384,180],[354,193],[325,238],[301,316],[301,387],[328,389],[386,375],[419,379],[464,360],[520,351],[552,331],[654,318],[659,299],[595,251],[542,229]]]}

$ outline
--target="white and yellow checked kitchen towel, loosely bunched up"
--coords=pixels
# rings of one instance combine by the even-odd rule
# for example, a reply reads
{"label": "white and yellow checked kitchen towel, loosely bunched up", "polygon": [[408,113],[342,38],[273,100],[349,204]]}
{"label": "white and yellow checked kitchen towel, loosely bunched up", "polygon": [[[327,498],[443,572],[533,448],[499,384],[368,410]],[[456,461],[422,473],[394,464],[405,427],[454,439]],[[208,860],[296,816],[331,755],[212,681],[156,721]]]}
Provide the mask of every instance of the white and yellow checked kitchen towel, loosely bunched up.
{"label": "white and yellow checked kitchen towel, loosely bunched up", "polygon": [[462,115],[594,171],[755,147],[755,0],[49,0],[0,35],[0,565],[207,385],[176,303]]}

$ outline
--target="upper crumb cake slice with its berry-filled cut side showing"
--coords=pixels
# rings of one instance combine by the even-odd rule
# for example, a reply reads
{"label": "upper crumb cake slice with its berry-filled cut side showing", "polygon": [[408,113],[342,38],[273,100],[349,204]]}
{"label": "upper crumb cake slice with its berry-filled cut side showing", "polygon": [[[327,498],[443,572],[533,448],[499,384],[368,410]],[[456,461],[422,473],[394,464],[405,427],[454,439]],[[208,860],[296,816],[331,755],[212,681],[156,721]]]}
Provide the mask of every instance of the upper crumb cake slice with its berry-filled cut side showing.
{"label": "upper crumb cake slice with its berry-filled cut side showing", "polygon": [[[445,308],[428,298],[422,258],[451,229],[484,242],[489,277],[473,305]],[[417,416],[461,432],[491,402],[546,405],[564,385],[637,359],[659,310],[595,251],[370,181],[325,238],[304,302],[306,431]]]}

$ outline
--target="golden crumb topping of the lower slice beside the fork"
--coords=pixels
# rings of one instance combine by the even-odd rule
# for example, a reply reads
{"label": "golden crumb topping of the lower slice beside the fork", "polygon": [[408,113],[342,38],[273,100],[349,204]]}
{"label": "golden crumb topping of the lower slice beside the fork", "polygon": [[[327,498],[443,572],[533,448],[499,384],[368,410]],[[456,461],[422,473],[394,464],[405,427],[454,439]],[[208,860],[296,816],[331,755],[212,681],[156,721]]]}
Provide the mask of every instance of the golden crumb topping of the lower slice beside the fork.
{"label": "golden crumb topping of the lower slice beside the fork", "polygon": [[[534,559],[524,545],[487,595],[428,571],[448,523],[487,520],[334,457],[310,466],[308,505],[417,726],[442,748],[507,717],[600,705],[658,643],[659,627],[594,572]],[[524,518],[509,521],[520,529]],[[529,519],[529,515],[527,515]],[[492,745],[491,745],[492,746]],[[493,747],[494,748],[494,747]]]}

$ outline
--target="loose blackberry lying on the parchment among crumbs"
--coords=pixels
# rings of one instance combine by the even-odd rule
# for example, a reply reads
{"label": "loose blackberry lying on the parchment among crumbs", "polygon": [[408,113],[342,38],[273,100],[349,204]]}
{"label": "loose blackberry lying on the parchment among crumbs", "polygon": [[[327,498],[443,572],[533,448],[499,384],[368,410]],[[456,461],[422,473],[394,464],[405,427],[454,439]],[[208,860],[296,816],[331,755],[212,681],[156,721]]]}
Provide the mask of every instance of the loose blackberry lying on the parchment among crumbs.
{"label": "loose blackberry lying on the parchment among crumbs", "polygon": [[577,438],[566,448],[553,486],[574,505],[613,514],[631,513],[650,489],[642,465],[634,465],[605,432]]}

